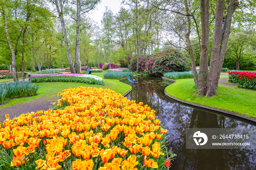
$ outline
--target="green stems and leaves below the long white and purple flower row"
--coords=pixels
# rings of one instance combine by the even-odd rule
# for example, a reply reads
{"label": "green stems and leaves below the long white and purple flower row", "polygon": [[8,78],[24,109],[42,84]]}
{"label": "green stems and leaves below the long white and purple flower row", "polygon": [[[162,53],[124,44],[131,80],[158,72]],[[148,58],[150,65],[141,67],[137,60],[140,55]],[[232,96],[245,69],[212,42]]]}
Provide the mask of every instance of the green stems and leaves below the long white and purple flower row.
{"label": "green stems and leaves below the long white and purple flower row", "polygon": [[80,76],[49,76],[49,77],[33,77],[31,82],[78,82],[85,84],[104,85],[103,81],[95,80],[94,78]]}

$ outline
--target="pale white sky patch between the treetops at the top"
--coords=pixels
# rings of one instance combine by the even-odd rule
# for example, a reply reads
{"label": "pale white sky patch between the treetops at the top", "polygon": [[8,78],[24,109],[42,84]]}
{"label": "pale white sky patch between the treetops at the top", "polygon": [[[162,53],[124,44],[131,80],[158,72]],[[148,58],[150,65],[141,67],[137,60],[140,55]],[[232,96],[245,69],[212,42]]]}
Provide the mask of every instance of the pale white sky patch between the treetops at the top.
{"label": "pale white sky patch between the treetops at the top", "polygon": [[101,25],[101,19],[106,9],[105,6],[108,6],[113,12],[113,15],[116,15],[122,6],[121,2],[122,0],[101,0],[101,3],[97,5],[96,9],[89,16]]}

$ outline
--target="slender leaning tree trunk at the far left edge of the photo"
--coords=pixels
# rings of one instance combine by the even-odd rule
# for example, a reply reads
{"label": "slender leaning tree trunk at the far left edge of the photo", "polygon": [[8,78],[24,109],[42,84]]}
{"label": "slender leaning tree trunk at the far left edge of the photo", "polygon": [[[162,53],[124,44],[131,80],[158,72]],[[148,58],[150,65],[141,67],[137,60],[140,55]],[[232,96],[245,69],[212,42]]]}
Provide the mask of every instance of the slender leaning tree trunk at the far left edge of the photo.
{"label": "slender leaning tree trunk at the far left edge of the photo", "polygon": [[3,11],[2,14],[3,14],[3,18],[4,18],[5,34],[7,36],[7,40],[8,40],[11,52],[12,52],[12,76],[13,76],[13,81],[16,82],[16,81],[19,81],[19,80],[18,80],[18,74],[16,72],[15,51],[14,51],[14,48],[12,46],[12,42],[11,42],[11,39],[10,39],[10,36],[9,36],[7,21],[6,21],[6,15],[5,15],[4,5],[3,5],[2,1],[1,1],[1,7],[2,7],[2,11]]}

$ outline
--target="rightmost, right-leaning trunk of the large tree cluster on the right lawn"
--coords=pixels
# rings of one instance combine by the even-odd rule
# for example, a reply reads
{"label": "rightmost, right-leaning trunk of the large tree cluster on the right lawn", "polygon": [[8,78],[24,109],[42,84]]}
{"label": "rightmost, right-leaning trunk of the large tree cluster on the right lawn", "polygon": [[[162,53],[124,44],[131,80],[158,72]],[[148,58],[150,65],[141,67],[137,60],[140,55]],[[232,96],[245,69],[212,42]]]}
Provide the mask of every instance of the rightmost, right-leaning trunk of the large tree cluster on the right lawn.
{"label": "rightmost, right-leaning trunk of the large tree cluster on the right lawn", "polygon": [[227,14],[224,16],[224,23],[222,28],[222,41],[221,41],[221,51],[219,53],[219,67],[217,70],[218,76],[217,80],[215,81],[215,88],[218,88],[218,81],[221,75],[221,69],[224,62],[225,54],[227,51],[227,42],[229,40],[230,35],[230,28],[232,23],[232,16],[234,11],[238,7],[238,1],[237,0],[229,0],[229,7],[227,9]]}

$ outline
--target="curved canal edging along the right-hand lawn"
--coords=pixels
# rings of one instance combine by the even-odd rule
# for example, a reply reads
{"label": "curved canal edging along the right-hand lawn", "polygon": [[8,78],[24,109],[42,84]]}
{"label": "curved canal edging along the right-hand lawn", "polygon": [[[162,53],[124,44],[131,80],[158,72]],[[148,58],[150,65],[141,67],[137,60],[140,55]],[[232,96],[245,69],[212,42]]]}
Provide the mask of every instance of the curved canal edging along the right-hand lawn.
{"label": "curved canal edging along the right-hand lawn", "polygon": [[[163,77],[162,77],[163,78]],[[163,78],[163,79],[166,79],[166,78]],[[168,80],[168,79],[166,79]],[[171,79],[169,79],[170,81],[173,81]],[[173,81],[174,82],[174,81]],[[176,81],[175,81],[176,82]],[[168,87],[168,86],[167,86]],[[167,88],[166,87],[166,88]],[[210,111],[214,111],[214,112],[219,112],[219,113],[224,113],[224,115],[231,115],[231,116],[234,116],[234,117],[240,117],[242,119],[246,119],[246,120],[249,120],[249,121],[253,121],[254,123],[256,123],[256,119],[252,118],[252,117],[248,117],[248,116],[244,116],[244,115],[240,115],[238,113],[235,113],[235,112],[230,112],[230,111],[226,111],[226,110],[223,110],[223,109],[218,109],[218,108],[214,108],[214,107],[210,107],[210,106],[206,106],[206,105],[202,105],[202,104],[197,104],[197,103],[191,103],[191,102],[188,102],[188,101],[185,101],[185,100],[181,100],[179,98],[176,98],[176,97],[173,97],[171,96],[170,94],[166,93],[166,88],[165,88],[165,95],[169,98],[171,98],[172,100],[174,101],[177,101],[178,103],[184,103],[186,105],[189,105],[189,106],[194,106],[196,108],[203,108],[203,109],[207,109],[207,110],[210,110]]]}

